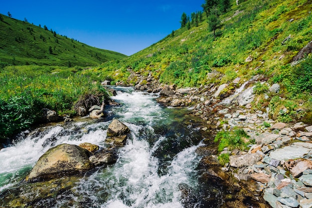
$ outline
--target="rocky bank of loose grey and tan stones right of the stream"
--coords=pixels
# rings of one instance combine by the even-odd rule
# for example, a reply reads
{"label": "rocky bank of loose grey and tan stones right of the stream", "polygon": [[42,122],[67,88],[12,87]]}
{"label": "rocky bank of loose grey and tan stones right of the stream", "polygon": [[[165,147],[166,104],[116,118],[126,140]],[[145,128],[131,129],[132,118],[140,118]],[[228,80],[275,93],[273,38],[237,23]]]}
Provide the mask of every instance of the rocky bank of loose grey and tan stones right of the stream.
{"label": "rocky bank of loose grey and tan stones right of the stream", "polygon": [[[244,151],[224,148],[217,152],[211,148],[210,138],[206,147],[198,150],[203,156],[199,165],[202,178],[208,175],[204,180],[214,178],[228,183],[229,192],[235,193],[230,198],[237,199],[228,199],[228,207],[248,207],[253,203],[258,207],[312,207],[312,125],[278,122],[269,117],[271,109],[267,105],[258,110],[252,108],[256,97],[253,83],[263,80],[261,77],[244,82],[237,78],[231,83],[235,90],[227,90],[227,84],[176,89],[174,85],[159,85],[149,77],[139,76],[136,89],[159,92],[158,102],[166,106],[189,106],[194,115],[206,122],[202,131],[215,135],[241,128],[249,135],[248,141],[254,143]],[[270,87],[271,94],[278,96],[279,91],[278,84]],[[297,113],[302,111],[297,109]],[[230,155],[224,167],[217,160],[220,154]]]}

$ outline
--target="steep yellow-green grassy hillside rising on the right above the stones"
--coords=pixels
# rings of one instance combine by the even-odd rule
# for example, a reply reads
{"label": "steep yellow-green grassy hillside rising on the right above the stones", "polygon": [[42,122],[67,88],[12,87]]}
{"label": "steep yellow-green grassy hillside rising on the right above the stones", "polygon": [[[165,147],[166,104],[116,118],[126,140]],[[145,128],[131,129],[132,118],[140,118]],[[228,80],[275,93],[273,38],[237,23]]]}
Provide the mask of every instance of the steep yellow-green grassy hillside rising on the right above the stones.
{"label": "steep yellow-green grassy hillside rising on the right above the stones", "polygon": [[[206,14],[198,26],[180,28],[156,44],[118,62],[109,62],[89,73],[111,74],[115,82],[138,84],[138,77],[152,76],[162,84],[200,87],[227,83],[224,90],[235,88],[254,78],[255,109],[271,106],[281,121],[291,121],[295,109],[312,109],[312,56],[296,66],[291,62],[312,40],[311,0],[245,0],[220,16],[216,37],[209,30]],[[249,57],[249,61],[246,58]],[[129,76],[135,73],[138,76]],[[240,77],[238,85],[232,81]],[[281,93],[268,94],[267,84],[279,83]],[[144,83],[144,82],[143,82]]]}

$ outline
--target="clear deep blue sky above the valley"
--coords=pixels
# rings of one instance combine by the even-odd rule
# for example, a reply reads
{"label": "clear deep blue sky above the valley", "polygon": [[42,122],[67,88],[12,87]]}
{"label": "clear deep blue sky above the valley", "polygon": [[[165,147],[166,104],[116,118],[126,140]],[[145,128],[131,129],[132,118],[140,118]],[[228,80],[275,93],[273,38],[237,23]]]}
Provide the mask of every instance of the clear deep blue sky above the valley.
{"label": "clear deep blue sky above the valley", "polygon": [[[180,27],[204,0],[2,0],[0,13],[97,48],[132,55]],[[0,31],[1,33],[1,31]]]}

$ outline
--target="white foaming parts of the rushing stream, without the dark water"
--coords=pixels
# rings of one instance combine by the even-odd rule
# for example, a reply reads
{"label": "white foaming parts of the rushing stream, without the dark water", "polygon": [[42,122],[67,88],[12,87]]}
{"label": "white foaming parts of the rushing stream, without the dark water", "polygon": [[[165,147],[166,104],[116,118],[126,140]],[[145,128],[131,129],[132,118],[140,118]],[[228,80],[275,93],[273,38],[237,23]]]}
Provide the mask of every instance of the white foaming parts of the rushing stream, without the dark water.
{"label": "white foaming parts of the rushing stream, without the dark water", "polygon": [[[131,129],[132,139],[119,149],[119,159],[116,164],[98,169],[92,175],[82,178],[73,189],[75,192],[66,193],[64,197],[82,205],[85,199],[88,199],[89,207],[182,208],[178,185],[183,183],[190,187],[195,186],[194,169],[197,166],[196,161],[199,161],[195,150],[198,146],[177,153],[172,161],[168,161],[165,174],[159,175],[160,162],[154,153],[167,138],[159,136],[150,144],[144,132],[153,132],[152,125],[166,118],[166,113],[156,104],[154,95],[132,92],[127,88],[123,90],[123,93],[118,93],[113,98],[123,105],[114,108],[113,111]],[[103,145],[109,123],[75,123],[79,130],[64,129],[57,125],[49,127],[37,137],[26,137],[14,146],[0,151],[0,167],[4,167],[0,169],[0,174],[33,166],[53,145],[82,142]],[[44,146],[47,139],[53,136],[56,137],[54,144],[50,142]],[[0,191],[9,186],[13,186],[13,183],[3,185]],[[66,199],[62,196],[57,199],[59,200],[56,207],[67,206]]]}

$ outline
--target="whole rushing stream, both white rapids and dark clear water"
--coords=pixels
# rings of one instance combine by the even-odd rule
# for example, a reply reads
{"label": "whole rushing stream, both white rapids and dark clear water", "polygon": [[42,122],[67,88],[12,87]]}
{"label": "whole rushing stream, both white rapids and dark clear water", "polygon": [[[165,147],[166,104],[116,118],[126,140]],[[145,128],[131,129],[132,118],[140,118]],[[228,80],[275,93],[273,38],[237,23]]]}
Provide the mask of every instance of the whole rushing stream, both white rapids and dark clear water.
{"label": "whole rushing stream, both white rapids and dark clear water", "polygon": [[[76,119],[71,124],[24,132],[13,144],[0,150],[0,207],[18,207],[17,202],[55,208],[198,207],[198,202],[186,206],[181,196],[181,187],[193,192],[198,189],[196,167],[200,158],[195,150],[203,139],[187,110],[161,107],[156,104],[154,94],[135,92],[132,88],[116,90],[118,95],[113,99],[121,105],[107,108],[106,118]],[[38,191],[38,186],[23,181],[39,157],[52,146],[90,142],[104,147],[113,117],[131,129],[130,139],[118,150],[116,164],[84,176],[44,184],[49,194],[43,196],[40,195],[43,189]],[[56,194],[51,194],[51,190]]]}

